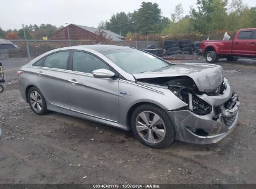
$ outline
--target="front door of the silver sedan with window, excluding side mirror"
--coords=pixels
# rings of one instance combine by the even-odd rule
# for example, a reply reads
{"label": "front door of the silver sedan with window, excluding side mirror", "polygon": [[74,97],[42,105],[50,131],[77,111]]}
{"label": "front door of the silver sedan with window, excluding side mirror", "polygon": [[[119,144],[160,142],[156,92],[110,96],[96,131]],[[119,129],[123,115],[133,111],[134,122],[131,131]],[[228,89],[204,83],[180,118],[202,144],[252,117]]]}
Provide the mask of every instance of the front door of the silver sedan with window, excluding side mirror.
{"label": "front door of the silver sedan with window, excluding side mirror", "polygon": [[73,52],[73,74],[69,77],[73,81],[69,86],[72,109],[95,118],[119,122],[119,79],[95,78],[92,71],[101,68],[115,72],[92,53]]}

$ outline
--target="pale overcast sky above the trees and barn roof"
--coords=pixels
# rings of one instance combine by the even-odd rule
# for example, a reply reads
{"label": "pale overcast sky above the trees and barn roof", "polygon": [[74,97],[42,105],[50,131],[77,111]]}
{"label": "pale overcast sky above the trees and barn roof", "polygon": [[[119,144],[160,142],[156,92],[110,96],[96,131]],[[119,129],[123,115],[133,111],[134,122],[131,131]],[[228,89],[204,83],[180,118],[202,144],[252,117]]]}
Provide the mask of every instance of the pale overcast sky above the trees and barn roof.
{"label": "pale overcast sky above the trees and barn roof", "polygon": [[[146,1],[146,0],[145,0]],[[0,27],[20,29],[22,24],[53,24],[59,27],[65,23],[97,27],[102,20],[110,19],[116,12],[133,12],[140,7],[139,0],[0,0]],[[146,1],[149,2],[149,1]],[[163,16],[170,17],[174,7],[181,2],[184,13],[195,6],[196,0],[158,0]],[[256,0],[244,0],[248,6],[256,6]]]}

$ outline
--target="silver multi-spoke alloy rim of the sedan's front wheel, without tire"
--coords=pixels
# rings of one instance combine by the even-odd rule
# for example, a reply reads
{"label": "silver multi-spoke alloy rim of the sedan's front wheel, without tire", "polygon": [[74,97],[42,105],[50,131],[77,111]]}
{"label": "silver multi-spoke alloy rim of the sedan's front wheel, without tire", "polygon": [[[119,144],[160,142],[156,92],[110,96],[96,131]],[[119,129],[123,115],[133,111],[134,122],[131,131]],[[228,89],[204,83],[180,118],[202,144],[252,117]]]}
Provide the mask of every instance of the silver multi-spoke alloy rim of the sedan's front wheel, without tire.
{"label": "silver multi-spoke alloy rim of the sedan's front wheel, without tire", "polygon": [[151,111],[143,111],[136,118],[136,131],[142,139],[151,144],[163,141],[166,127],[163,119]]}

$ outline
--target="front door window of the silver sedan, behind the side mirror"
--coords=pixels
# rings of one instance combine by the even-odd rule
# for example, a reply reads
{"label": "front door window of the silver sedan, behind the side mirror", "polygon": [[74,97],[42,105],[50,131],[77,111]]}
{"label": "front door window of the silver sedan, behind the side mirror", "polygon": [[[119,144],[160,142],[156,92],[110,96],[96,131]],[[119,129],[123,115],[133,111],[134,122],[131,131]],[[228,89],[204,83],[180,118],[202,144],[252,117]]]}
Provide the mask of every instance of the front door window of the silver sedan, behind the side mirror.
{"label": "front door window of the silver sedan, behind the side mirror", "polygon": [[102,68],[110,70],[110,67],[102,62],[102,60],[89,53],[78,51],[73,53],[73,71],[92,73],[93,70]]}

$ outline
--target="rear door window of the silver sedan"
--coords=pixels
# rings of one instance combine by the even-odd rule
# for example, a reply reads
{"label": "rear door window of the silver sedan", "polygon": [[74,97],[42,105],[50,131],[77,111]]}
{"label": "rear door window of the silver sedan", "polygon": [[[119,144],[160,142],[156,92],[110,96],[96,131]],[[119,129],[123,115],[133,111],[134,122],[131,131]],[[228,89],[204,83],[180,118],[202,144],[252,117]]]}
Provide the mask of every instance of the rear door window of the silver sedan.
{"label": "rear door window of the silver sedan", "polygon": [[44,67],[67,70],[69,51],[62,51],[47,56],[44,60]]}

